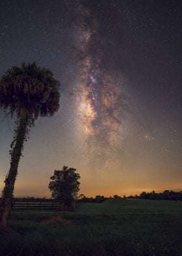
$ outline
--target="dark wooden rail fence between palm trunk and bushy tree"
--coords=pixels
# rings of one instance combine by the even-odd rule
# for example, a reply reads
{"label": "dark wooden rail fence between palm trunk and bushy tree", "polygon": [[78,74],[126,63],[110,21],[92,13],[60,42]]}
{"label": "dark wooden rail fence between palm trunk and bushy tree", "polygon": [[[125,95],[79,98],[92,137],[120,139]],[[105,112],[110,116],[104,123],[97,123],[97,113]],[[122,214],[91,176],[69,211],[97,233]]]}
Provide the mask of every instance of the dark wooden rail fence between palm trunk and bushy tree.
{"label": "dark wooden rail fence between palm trunk and bushy tree", "polygon": [[59,210],[60,202],[52,199],[14,199],[12,210]]}

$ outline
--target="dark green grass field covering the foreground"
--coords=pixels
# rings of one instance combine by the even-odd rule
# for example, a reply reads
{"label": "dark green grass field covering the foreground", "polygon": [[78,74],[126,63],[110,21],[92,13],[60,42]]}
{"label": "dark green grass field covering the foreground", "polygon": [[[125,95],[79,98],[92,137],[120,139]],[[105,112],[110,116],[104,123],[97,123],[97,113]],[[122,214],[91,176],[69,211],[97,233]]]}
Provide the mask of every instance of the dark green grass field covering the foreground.
{"label": "dark green grass field covering the foreground", "polygon": [[0,255],[182,255],[182,202],[109,199],[75,212],[12,212]]}

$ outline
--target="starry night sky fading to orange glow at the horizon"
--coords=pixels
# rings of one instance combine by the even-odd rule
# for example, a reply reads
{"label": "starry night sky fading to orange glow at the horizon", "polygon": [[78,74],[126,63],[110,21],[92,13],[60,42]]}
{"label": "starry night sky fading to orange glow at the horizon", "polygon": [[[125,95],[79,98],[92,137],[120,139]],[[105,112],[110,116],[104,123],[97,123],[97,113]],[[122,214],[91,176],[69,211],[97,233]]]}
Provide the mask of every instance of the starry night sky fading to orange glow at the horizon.
{"label": "starry night sky fading to orange glow at the horizon", "polygon": [[[180,0],[0,1],[0,75],[36,61],[61,84],[59,112],[25,144],[16,196],[50,197],[63,165],[88,196],[182,190],[181,13]],[[13,129],[1,121],[1,189]]]}

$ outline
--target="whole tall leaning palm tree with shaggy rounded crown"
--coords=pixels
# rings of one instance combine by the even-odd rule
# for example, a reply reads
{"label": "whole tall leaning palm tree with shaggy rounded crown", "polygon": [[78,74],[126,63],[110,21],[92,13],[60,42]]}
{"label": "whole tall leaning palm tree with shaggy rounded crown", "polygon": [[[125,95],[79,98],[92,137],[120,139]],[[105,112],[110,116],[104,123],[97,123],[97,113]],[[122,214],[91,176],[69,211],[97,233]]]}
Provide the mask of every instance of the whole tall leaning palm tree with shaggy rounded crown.
{"label": "whole tall leaning palm tree with shaggy rounded crown", "polygon": [[8,230],[8,216],[18,164],[30,127],[38,116],[53,116],[59,109],[59,82],[49,69],[36,63],[22,63],[11,67],[1,76],[0,108],[16,117],[14,140],[10,150],[10,170],[6,174],[5,187],[1,198],[0,227]]}

